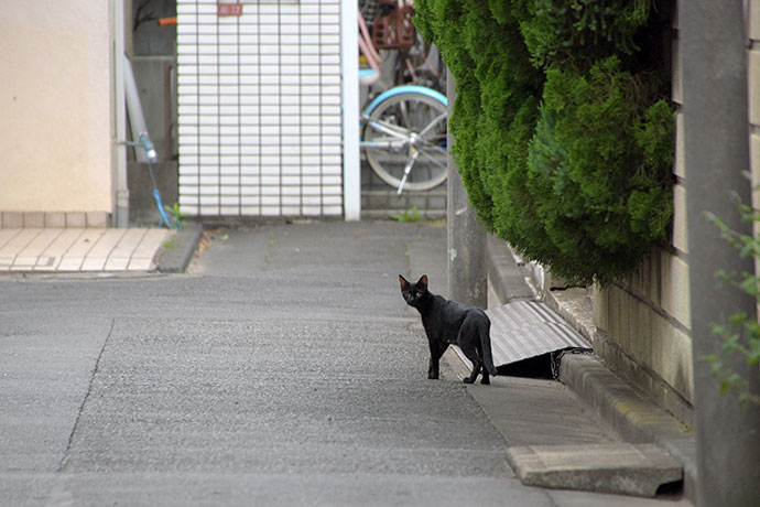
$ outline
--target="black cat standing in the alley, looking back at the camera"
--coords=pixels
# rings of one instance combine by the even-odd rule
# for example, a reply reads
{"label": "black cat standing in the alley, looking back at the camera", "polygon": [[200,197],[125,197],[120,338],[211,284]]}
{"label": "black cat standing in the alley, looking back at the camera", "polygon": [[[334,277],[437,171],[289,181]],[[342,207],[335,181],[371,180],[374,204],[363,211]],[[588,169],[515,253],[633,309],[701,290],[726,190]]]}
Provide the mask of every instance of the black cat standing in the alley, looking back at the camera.
{"label": "black cat standing in the alley, looking back at the camera", "polygon": [[438,378],[441,356],[449,344],[454,344],[473,362],[473,373],[465,382],[475,382],[482,368],[480,384],[490,384],[489,374],[496,375],[497,371],[491,358],[491,321],[488,315],[479,308],[468,308],[430,292],[427,274],[423,274],[416,283],[399,274],[399,282],[406,304],[417,309],[422,315],[422,325],[431,347],[427,378]]}

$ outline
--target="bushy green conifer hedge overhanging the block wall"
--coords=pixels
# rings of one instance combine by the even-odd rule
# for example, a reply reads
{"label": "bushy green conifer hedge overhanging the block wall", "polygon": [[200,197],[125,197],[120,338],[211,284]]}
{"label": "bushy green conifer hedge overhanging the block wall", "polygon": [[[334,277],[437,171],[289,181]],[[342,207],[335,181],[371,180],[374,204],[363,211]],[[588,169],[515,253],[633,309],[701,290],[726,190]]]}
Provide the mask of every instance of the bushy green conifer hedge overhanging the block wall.
{"label": "bushy green conifer hedge overhanging the block wall", "polygon": [[480,220],[577,282],[636,270],[672,215],[670,69],[651,0],[415,6],[456,78],[453,152]]}

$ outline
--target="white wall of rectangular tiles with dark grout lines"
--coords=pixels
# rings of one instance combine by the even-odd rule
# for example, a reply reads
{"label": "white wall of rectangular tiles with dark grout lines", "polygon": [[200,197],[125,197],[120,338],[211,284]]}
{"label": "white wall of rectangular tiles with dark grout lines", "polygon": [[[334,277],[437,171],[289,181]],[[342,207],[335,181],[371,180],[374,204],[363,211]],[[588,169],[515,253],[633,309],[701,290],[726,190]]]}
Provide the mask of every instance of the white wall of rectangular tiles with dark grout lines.
{"label": "white wall of rectangular tiles with dark grout lines", "polygon": [[340,0],[177,0],[180,206],[340,215]]}

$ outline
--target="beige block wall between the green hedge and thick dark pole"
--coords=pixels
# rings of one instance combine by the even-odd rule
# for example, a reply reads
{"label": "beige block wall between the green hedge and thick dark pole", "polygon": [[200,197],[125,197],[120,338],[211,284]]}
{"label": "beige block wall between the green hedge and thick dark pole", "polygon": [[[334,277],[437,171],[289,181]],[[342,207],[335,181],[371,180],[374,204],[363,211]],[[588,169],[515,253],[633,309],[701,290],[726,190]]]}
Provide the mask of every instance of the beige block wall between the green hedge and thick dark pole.
{"label": "beige block wall between the green hedge and thick dark pole", "polygon": [[[760,0],[754,3],[760,4]],[[674,12],[672,99],[680,107],[683,99],[677,32],[677,13]],[[597,328],[594,347],[608,366],[691,425],[694,375],[684,186],[687,174],[683,149],[683,118],[678,111],[671,237],[666,245],[652,249],[638,273],[594,290],[594,323]]]}

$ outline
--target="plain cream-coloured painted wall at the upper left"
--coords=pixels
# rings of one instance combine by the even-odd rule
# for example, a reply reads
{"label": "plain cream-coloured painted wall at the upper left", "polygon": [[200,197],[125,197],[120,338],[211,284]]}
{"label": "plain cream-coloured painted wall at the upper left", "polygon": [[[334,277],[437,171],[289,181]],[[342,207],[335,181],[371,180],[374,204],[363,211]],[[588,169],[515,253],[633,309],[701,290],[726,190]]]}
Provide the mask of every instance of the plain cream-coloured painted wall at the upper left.
{"label": "plain cream-coloured painted wall at the upper left", "polygon": [[0,212],[112,211],[108,1],[0,8]]}

